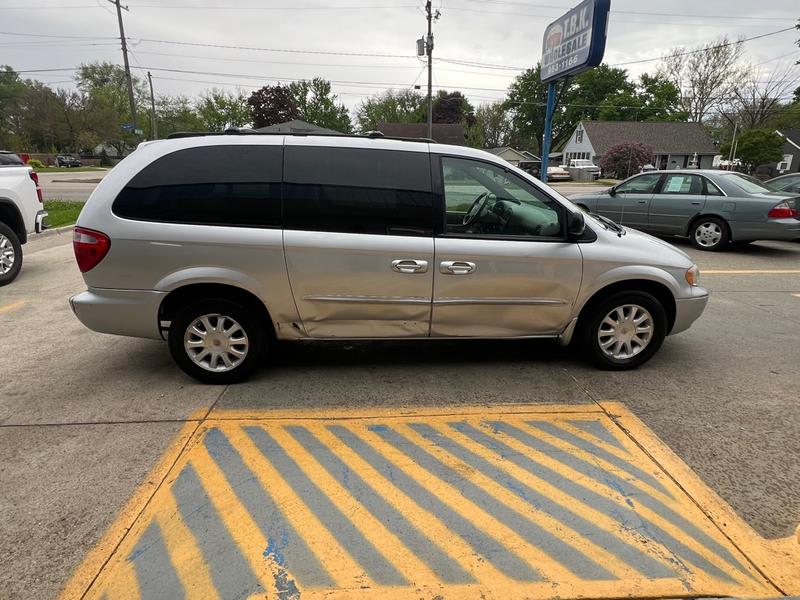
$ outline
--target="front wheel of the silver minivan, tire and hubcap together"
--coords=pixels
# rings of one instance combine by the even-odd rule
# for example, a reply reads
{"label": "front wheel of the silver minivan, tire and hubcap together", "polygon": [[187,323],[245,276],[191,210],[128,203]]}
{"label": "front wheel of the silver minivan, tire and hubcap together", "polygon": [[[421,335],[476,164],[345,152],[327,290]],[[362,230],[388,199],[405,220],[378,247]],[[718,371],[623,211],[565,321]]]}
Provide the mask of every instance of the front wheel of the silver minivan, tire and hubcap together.
{"label": "front wheel of the silver minivan, tire and hubcap together", "polygon": [[594,307],[582,330],[583,347],[600,367],[635,369],[664,343],[667,314],[646,292],[614,294]]}

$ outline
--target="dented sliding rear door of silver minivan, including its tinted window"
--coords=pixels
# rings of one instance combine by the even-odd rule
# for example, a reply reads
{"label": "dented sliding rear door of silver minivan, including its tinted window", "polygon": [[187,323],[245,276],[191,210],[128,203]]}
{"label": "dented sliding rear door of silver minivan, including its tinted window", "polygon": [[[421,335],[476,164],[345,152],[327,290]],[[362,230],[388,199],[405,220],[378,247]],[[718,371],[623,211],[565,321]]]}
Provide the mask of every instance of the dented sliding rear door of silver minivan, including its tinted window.
{"label": "dented sliding rear door of silver minivan, including its tinted window", "polygon": [[[433,288],[427,151],[286,138],[286,266],[315,338],[426,337]],[[385,144],[384,144],[385,147]]]}

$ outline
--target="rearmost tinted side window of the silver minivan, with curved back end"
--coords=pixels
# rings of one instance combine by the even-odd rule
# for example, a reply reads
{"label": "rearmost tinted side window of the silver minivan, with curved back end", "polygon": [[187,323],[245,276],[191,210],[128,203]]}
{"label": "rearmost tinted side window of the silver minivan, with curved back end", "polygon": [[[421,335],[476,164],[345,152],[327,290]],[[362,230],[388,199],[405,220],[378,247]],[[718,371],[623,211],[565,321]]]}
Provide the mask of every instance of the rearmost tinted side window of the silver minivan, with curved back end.
{"label": "rearmost tinted side window of the silver minivan, with curved back end", "polygon": [[139,171],[114,200],[140,221],[281,226],[281,146],[202,146],[172,152]]}

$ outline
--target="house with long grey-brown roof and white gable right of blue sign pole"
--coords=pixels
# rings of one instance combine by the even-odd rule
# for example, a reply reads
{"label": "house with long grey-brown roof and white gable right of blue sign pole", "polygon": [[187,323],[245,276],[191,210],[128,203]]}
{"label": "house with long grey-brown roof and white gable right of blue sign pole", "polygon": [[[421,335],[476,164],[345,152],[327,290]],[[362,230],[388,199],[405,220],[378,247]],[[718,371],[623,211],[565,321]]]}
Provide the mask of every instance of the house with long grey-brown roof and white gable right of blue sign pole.
{"label": "house with long grey-brown roof and white gable right of blue sign pole", "polygon": [[700,123],[581,121],[563,148],[564,162],[579,158],[598,164],[609,149],[624,142],[650,146],[658,169],[710,169],[719,154]]}

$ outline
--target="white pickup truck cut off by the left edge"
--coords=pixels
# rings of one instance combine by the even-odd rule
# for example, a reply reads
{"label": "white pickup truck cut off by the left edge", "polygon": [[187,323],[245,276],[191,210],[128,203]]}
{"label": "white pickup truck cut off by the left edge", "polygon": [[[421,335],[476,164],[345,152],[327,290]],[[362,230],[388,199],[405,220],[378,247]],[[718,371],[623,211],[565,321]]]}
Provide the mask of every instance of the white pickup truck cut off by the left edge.
{"label": "white pickup truck cut off by the left edge", "polygon": [[0,286],[19,275],[22,245],[46,228],[46,216],[39,176],[16,154],[0,151]]}

